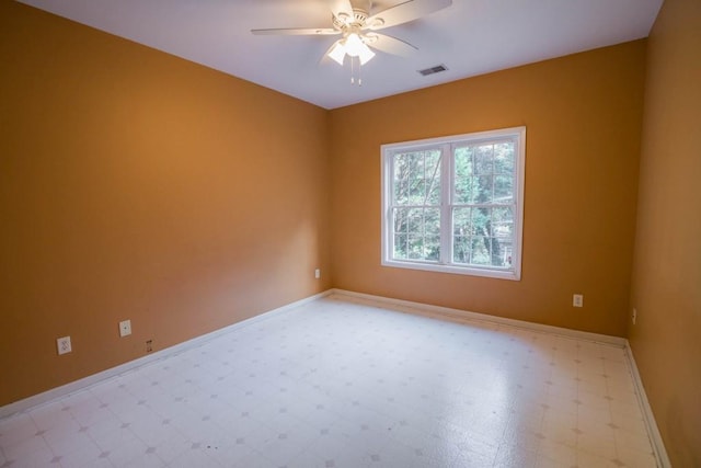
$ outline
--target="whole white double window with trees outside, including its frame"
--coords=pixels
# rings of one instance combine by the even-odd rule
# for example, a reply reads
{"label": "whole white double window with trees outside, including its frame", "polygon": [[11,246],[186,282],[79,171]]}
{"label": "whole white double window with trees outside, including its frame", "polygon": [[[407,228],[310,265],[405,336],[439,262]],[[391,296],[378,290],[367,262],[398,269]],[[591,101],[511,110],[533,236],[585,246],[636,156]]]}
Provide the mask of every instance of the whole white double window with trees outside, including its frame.
{"label": "whole white double window with trees outside, including its frame", "polygon": [[382,265],[520,278],[526,127],[382,145]]}

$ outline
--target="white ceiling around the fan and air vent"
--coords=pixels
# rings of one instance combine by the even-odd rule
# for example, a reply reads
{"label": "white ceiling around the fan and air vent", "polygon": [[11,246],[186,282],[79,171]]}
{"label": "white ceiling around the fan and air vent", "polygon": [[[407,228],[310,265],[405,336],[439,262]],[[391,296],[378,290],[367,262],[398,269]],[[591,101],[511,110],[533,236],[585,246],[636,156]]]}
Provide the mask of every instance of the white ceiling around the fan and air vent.
{"label": "white ceiling around the fan and air vent", "polygon": [[[452,0],[381,32],[418,47],[361,69],[320,58],[337,36],[254,36],[251,28],[330,27],[332,0],[21,0],[60,16],[325,109],[646,37],[663,0]],[[377,0],[380,11],[405,0]],[[443,64],[429,77],[417,70]]]}

